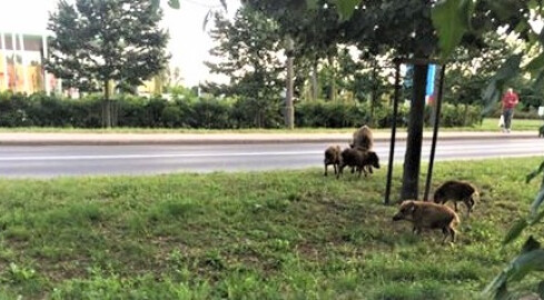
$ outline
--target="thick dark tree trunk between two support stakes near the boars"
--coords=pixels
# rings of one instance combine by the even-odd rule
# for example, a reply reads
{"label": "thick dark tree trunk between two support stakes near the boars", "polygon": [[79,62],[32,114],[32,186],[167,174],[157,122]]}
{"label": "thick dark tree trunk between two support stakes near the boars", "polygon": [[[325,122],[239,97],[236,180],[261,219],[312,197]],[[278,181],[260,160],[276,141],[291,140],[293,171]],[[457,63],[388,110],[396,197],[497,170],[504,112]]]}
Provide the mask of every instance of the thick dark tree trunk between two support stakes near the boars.
{"label": "thick dark tree trunk between two support stakes near the boars", "polygon": [[408,137],[400,191],[402,200],[418,198],[426,81],[427,66],[414,66],[414,94],[409,109]]}

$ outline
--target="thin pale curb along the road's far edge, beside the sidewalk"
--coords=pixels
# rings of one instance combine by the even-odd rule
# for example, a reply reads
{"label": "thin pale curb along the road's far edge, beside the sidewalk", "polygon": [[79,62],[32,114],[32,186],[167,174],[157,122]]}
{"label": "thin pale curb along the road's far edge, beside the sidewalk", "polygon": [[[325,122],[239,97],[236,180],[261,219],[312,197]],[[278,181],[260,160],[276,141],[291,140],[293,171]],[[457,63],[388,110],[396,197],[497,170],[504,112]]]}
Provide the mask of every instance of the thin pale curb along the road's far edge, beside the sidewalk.
{"label": "thin pale curb along the road's far edge, beside the sidewalk", "polygon": [[[537,134],[457,134],[457,136],[441,136],[438,140],[489,140],[505,138],[513,139],[531,139],[537,138]],[[407,139],[406,133],[397,134],[396,141],[405,141]],[[327,138],[327,137],[314,137],[314,138],[196,138],[196,139],[154,139],[152,137],[144,139],[4,139],[0,140],[0,146],[214,146],[214,144],[270,144],[270,143],[347,143],[349,134],[345,138]],[[389,141],[389,137],[375,137],[374,141]],[[424,141],[432,140],[431,134],[423,137]]]}

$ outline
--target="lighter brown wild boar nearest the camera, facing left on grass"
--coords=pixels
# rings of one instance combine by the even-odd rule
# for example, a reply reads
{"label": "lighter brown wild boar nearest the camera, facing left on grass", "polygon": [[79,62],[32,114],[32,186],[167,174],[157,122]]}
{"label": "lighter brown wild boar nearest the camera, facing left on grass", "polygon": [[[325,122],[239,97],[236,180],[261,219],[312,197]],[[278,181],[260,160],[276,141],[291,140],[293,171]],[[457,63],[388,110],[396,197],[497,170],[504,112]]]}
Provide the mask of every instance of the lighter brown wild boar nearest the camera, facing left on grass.
{"label": "lighter brown wild boar nearest the camera, facing left on grass", "polygon": [[407,220],[414,224],[413,232],[421,233],[422,229],[442,229],[444,243],[447,237],[455,242],[455,224],[459,223],[457,213],[446,206],[433,202],[407,200],[400,203],[399,211],[393,217],[393,221]]}

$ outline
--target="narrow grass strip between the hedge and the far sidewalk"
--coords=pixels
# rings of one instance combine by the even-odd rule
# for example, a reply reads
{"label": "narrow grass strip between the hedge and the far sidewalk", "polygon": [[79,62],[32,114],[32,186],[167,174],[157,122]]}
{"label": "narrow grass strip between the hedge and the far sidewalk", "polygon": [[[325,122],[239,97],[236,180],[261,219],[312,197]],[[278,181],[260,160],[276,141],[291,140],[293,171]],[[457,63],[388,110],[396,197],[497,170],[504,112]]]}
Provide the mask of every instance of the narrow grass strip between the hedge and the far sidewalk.
{"label": "narrow grass strip between the hedge and the far sidewalk", "polygon": [[[498,119],[484,119],[482,124],[462,128],[442,128],[443,131],[500,131]],[[544,120],[514,119],[513,131],[534,131],[544,124]],[[426,131],[433,129],[426,128]],[[61,133],[350,133],[354,128],[296,128],[287,129],[168,129],[168,128],[112,128],[112,129],[83,129],[83,128],[0,128],[0,132],[61,132]],[[375,131],[389,132],[390,129],[375,129]],[[406,131],[406,128],[399,128]]]}

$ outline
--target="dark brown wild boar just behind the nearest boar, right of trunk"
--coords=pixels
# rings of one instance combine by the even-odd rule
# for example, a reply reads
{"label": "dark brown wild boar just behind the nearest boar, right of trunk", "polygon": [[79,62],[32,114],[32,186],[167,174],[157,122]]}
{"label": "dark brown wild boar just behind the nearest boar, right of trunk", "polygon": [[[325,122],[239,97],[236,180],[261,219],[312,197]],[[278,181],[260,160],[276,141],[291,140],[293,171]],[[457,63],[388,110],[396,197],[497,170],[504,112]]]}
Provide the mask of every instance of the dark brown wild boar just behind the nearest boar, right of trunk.
{"label": "dark brown wild boar just behind the nearest boar, right of trunk", "polygon": [[449,180],[436,189],[433,199],[435,203],[442,204],[452,200],[455,211],[457,211],[457,202],[463,202],[467,208],[467,216],[471,216],[475,204],[474,197],[476,196],[478,196],[478,192],[473,184],[458,180]]}

